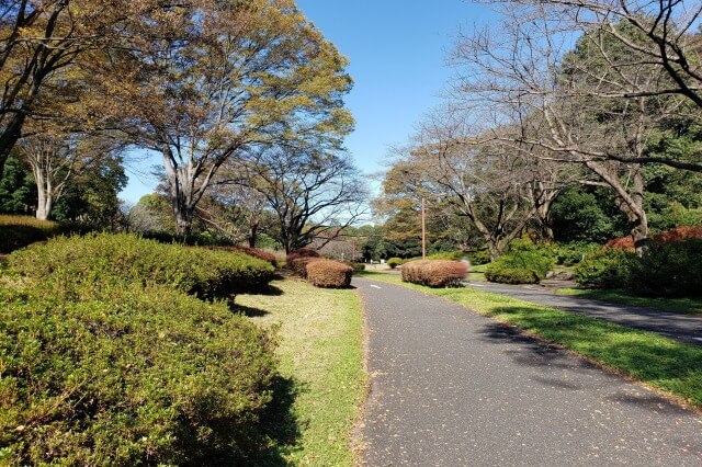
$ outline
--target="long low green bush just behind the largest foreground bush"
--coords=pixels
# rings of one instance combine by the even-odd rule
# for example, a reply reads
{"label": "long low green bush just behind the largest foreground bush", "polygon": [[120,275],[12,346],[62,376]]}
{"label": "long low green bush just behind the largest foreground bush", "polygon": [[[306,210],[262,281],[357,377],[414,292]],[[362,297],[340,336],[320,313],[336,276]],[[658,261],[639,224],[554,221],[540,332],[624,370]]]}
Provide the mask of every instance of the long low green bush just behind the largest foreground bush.
{"label": "long low green bush just behind the largest foreground bush", "polygon": [[257,288],[274,272],[269,263],[242,253],[162,244],[126,234],[60,237],[15,251],[8,261],[10,271],[53,278],[57,287],[126,281],[166,285],[203,299]]}

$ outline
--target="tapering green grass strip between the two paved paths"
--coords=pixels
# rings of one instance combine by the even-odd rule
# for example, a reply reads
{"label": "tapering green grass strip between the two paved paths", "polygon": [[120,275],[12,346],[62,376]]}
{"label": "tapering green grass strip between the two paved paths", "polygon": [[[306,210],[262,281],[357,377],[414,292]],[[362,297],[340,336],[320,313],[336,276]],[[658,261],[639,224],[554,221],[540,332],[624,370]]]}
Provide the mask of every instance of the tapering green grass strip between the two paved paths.
{"label": "tapering green grass strip between the two paved paths", "polygon": [[472,287],[429,288],[404,284],[400,277],[388,274],[367,273],[365,277],[446,298],[702,408],[702,348]]}

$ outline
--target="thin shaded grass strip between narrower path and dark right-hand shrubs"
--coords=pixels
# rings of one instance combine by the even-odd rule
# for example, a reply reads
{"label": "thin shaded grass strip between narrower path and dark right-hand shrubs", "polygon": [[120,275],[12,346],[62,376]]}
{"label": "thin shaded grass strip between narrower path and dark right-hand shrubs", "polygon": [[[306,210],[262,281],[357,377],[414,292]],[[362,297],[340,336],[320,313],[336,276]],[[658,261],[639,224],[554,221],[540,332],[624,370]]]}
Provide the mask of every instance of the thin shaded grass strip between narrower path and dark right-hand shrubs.
{"label": "thin shaded grass strip between narrower path and dark right-hand shrubs", "polygon": [[702,315],[702,299],[700,298],[654,298],[642,297],[626,291],[597,291],[582,288],[559,288],[556,294],[573,297],[593,298],[613,301],[634,307],[650,307],[684,315]]}

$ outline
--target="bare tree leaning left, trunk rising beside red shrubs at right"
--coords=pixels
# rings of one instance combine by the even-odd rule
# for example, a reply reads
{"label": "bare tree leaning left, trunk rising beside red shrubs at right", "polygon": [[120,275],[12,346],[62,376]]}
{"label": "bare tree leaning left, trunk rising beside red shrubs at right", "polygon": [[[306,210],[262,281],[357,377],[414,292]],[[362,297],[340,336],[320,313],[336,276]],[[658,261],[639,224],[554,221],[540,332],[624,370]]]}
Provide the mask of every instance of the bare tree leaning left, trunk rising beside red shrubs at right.
{"label": "bare tree leaning left, trunk rising beside red shrubs at right", "polygon": [[[455,55],[463,71],[458,99],[489,105],[496,121],[545,128],[507,137],[494,132],[492,137],[540,146],[547,151],[540,157],[575,162],[597,175],[587,183],[614,194],[641,253],[648,239],[641,163],[660,122],[682,103],[666,93],[613,95],[612,90],[625,83],[649,88],[660,81],[661,71],[655,64],[644,66],[637,57],[632,57],[633,67],[613,68],[612,57],[630,52],[618,48],[601,31],[580,37],[571,52],[573,37],[557,25],[548,16],[525,21],[512,12],[500,34],[486,31],[463,37]],[[637,41],[635,33],[629,34]]]}

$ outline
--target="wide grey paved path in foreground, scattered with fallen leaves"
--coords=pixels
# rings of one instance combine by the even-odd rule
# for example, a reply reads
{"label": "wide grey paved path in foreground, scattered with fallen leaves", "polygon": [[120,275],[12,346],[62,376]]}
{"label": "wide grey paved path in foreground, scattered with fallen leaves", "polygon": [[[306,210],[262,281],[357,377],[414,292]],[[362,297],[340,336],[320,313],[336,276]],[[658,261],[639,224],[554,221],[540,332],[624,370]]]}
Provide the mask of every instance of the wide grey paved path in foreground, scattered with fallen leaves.
{"label": "wide grey paved path in foreground, scattered with fallen leaves", "polygon": [[370,466],[702,465],[702,418],[457,305],[354,278]]}

